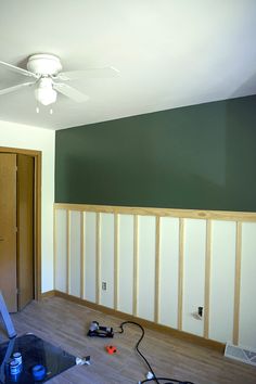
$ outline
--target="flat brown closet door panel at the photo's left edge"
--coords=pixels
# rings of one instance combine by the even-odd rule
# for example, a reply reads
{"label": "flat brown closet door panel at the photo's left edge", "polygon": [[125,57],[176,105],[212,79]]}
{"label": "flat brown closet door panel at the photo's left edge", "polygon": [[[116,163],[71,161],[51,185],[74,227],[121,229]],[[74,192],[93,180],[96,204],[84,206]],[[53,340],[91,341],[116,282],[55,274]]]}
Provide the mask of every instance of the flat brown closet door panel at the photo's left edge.
{"label": "flat brown closet door panel at the photo's left edge", "polygon": [[0,153],[0,290],[9,311],[16,311],[16,155],[5,153]]}

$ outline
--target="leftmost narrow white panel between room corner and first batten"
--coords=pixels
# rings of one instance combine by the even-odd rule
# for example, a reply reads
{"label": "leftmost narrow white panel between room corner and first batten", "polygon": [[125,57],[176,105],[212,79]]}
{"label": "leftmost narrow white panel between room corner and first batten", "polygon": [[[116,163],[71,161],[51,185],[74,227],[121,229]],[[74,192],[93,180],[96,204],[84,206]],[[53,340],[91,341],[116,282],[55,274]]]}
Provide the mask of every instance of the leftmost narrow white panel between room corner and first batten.
{"label": "leftmost narrow white panel between room corner and first batten", "polygon": [[55,290],[67,292],[67,212],[57,209],[55,213]]}

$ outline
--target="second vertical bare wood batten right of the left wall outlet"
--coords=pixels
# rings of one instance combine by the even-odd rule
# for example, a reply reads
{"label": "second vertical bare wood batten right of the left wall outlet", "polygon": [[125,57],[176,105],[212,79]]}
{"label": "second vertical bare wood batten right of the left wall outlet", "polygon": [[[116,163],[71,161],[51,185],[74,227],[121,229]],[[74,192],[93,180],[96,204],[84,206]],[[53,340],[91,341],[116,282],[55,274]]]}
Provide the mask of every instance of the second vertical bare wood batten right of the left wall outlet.
{"label": "second vertical bare wood batten right of the left wall outlet", "polygon": [[133,304],[132,315],[137,316],[138,312],[138,274],[139,274],[139,222],[138,215],[133,216]]}

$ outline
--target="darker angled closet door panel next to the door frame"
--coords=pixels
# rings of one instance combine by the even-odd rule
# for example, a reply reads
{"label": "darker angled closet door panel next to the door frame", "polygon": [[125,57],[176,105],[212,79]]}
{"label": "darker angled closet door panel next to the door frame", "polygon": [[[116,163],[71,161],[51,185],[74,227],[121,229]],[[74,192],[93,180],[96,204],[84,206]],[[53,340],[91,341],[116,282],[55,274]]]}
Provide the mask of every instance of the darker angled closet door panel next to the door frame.
{"label": "darker angled closet door panel next to the door frame", "polygon": [[17,307],[34,298],[34,157],[17,154]]}

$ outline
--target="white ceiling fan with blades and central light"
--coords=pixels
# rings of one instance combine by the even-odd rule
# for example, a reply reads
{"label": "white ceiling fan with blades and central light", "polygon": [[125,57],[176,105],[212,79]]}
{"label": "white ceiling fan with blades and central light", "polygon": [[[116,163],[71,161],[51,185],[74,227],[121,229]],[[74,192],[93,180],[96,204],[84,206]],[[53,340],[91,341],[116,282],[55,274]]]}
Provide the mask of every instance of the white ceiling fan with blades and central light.
{"label": "white ceiling fan with blades and central light", "polygon": [[18,91],[24,87],[35,86],[35,98],[43,104],[55,103],[57,92],[75,102],[81,103],[89,99],[77,89],[71,87],[68,81],[82,78],[110,78],[118,76],[119,71],[114,67],[92,68],[84,71],[62,72],[60,57],[53,54],[33,54],[28,57],[27,69],[0,61],[0,65],[8,69],[30,78],[30,81],[13,87],[0,89],[0,95]]}

